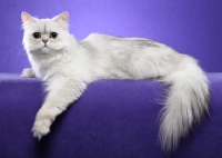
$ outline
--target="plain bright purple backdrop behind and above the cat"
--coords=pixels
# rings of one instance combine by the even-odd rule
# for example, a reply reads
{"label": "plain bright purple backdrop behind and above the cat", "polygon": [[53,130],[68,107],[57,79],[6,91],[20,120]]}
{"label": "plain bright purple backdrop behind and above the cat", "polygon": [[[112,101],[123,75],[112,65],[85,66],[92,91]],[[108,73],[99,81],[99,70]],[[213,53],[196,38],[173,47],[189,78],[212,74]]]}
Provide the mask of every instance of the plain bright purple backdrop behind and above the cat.
{"label": "plain bright purple backdrop behind and above the cat", "polygon": [[21,11],[49,18],[65,10],[77,39],[91,32],[150,38],[192,55],[209,72],[222,71],[221,0],[1,0],[0,72],[29,67],[21,46]]}

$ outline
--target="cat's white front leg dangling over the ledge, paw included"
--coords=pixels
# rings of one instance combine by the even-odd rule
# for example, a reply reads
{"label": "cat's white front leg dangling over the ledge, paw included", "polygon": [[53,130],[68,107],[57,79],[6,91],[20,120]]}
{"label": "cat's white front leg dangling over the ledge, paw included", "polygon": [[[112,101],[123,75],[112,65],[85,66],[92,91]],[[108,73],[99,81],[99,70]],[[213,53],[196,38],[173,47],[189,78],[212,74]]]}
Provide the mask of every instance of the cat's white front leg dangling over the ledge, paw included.
{"label": "cat's white front leg dangling over the ledge, paw included", "polygon": [[50,81],[49,93],[36,117],[32,128],[33,136],[41,139],[42,136],[50,132],[50,126],[56,117],[64,111],[71,102],[81,97],[85,88],[85,82],[73,81],[63,77]]}

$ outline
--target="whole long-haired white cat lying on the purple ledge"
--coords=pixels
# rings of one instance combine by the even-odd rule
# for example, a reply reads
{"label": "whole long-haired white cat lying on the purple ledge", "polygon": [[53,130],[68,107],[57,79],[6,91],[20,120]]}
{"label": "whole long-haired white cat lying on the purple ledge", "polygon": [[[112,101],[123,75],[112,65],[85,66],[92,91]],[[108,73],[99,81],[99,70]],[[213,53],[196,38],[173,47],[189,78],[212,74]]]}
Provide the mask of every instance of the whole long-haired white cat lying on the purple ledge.
{"label": "whole long-haired white cat lying on the purple ledge", "polygon": [[98,79],[158,79],[169,86],[160,125],[161,144],[168,151],[209,112],[208,78],[188,55],[143,38],[92,33],[78,41],[69,33],[68,12],[52,19],[22,12],[21,19],[32,67],[21,76],[42,79],[48,91],[32,128],[38,139],[49,134],[56,117]]}

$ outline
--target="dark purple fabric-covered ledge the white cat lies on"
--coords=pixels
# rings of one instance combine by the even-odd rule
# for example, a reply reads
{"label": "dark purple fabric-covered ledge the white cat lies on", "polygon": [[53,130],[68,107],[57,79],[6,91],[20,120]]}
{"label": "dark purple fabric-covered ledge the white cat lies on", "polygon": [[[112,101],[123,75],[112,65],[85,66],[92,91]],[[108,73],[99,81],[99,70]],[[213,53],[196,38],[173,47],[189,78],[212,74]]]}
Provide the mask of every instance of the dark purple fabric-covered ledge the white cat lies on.
{"label": "dark purple fabric-covered ledge the white cat lies on", "polygon": [[210,117],[195,126],[171,156],[158,141],[162,86],[152,80],[99,80],[59,116],[50,135],[32,137],[43,102],[36,78],[0,73],[1,158],[221,158],[222,73],[209,73]]}

